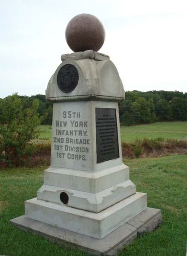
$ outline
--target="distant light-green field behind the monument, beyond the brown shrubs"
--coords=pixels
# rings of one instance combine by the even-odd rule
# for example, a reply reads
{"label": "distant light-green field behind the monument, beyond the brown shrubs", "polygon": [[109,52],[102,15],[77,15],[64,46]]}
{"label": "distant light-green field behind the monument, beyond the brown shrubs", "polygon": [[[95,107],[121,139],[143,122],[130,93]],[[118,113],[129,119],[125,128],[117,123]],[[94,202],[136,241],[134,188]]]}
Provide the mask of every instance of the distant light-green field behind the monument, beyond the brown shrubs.
{"label": "distant light-green field behind the monument, beyond the brown shrubs", "polygon": [[[40,125],[40,138],[51,139],[51,126]],[[136,138],[174,138],[187,139],[187,122],[158,122],[121,127],[121,141],[129,142]]]}

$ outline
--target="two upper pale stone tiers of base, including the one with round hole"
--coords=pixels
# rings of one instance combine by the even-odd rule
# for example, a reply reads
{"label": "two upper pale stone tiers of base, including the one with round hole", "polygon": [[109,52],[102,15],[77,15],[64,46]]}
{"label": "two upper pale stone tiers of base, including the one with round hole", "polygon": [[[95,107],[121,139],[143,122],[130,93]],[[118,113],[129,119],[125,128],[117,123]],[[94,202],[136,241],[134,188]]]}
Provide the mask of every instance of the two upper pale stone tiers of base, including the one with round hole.
{"label": "two upper pale stone tiers of base, including the one with round hole", "polygon": [[69,207],[98,213],[135,194],[136,186],[124,164],[97,172],[50,166],[44,171],[44,184],[37,191],[37,199],[64,206],[61,192],[68,195]]}

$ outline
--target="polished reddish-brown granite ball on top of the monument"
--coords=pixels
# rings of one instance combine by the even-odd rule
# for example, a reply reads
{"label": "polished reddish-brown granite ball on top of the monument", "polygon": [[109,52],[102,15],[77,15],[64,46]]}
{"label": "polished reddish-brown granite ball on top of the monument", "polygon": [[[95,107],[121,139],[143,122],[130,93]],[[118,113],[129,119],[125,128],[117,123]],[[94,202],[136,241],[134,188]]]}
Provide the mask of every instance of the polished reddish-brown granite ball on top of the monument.
{"label": "polished reddish-brown granite ball on top of the monument", "polygon": [[105,30],[101,21],[91,14],[79,14],[66,27],[66,42],[74,52],[98,51],[104,44]]}

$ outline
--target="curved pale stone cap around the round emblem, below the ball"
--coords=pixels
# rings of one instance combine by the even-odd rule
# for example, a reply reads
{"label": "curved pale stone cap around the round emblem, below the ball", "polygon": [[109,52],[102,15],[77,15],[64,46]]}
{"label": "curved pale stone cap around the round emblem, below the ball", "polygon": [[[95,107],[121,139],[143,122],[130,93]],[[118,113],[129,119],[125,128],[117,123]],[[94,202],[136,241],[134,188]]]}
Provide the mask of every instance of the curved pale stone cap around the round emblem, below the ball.
{"label": "curved pale stone cap around the round emblem, below the ball", "polygon": [[[101,55],[97,55],[97,58]],[[78,70],[79,80],[76,88],[64,93],[57,83],[58,72],[66,64],[74,65]],[[111,60],[65,59],[49,80],[46,98],[53,102],[103,100],[118,102],[124,99],[124,88],[118,71]]]}

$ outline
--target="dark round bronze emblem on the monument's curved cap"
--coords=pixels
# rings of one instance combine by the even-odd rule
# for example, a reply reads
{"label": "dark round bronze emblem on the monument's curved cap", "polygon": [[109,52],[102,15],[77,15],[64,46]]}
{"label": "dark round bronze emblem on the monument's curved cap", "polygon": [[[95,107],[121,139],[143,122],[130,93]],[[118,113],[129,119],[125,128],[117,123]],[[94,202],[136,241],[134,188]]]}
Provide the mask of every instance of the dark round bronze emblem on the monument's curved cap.
{"label": "dark round bronze emblem on the monument's curved cap", "polygon": [[78,70],[72,64],[60,68],[57,75],[57,84],[61,91],[69,93],[78,85]]}

